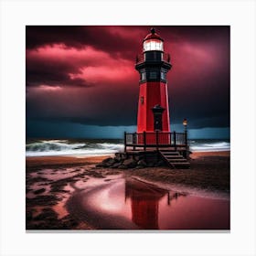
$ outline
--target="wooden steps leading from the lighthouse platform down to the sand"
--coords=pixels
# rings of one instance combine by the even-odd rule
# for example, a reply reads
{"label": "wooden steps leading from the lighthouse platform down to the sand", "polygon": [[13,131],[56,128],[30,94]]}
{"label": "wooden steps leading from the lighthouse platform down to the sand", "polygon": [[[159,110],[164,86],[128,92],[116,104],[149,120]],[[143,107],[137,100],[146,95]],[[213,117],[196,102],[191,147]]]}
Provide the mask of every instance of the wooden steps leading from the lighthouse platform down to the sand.
{"label": "wooden steps leading from the lighthouse platform down to the sand", "polygon": [[176,151],[160,150],[159,154],[172,168],[187,169],[190,167],[187,159]]}

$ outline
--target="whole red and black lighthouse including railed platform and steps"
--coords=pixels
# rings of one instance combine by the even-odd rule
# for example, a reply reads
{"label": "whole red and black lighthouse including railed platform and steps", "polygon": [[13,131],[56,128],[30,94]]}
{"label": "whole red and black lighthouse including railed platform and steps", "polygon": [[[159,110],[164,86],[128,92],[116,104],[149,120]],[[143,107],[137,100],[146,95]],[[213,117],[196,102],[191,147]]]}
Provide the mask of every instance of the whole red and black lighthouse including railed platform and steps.
{"label": "whole red and black lighthouse including railed platform and steps", "polygon": [[166,75],[171,68],[164,39],[152,28],[144,37],[142,53],[136,58],[135,69],[140,75],[137,131],[124,132],[125,159],[135,159],[137,155],[149,165],[159,165],[158,160],[162,158],[172,168],[190,166],[186,159],[189,155],[187,119],[183,122],[184,133],[170,131]]}

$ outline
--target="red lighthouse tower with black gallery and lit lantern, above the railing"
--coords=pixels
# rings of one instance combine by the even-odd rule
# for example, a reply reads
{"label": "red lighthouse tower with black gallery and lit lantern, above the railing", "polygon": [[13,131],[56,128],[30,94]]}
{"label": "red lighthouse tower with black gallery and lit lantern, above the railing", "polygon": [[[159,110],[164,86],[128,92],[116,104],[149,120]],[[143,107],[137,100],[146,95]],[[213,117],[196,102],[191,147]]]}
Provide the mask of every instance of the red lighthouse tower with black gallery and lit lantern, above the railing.
{"label": "red lighthouse tower with black gallery and lit lantern, above the railing", "polygon": [[140,73],[137,133],[170,132],[166,74],[171,68],[170,56],[164,52],[164,39],[152,28],[144,37],[143,53],[135,65]]}

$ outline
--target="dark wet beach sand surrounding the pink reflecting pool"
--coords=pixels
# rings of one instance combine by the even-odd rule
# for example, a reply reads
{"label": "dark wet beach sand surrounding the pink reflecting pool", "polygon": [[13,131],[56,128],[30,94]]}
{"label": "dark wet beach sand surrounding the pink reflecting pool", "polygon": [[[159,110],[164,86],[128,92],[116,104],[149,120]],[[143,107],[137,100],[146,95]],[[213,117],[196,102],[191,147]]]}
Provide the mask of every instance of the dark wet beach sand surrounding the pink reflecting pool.
{"label": "dark wet beach sand surrounding the pink reflecting pool", "polygon": [[[193,153],[190,156],[191,168],[186,170],[95,168],[95,164],[107,156],[27,157],[27,229],[103,229],[104,224],[97,228],[95,222],[89,221],[89,216],[81,218],[76,214],[81,212],[79,202],[82,195],[86,195],[85,191],[89,193],[92,188],[94,192],[98,191],[120,178],[138,178],[156,187],[164,184],[204,189],[229,197],[229,152]],[[116,229],[137,229],[126,220],[119,216],[112,223],[120,223]],[[110,229],[114,227],[117,226]]]}

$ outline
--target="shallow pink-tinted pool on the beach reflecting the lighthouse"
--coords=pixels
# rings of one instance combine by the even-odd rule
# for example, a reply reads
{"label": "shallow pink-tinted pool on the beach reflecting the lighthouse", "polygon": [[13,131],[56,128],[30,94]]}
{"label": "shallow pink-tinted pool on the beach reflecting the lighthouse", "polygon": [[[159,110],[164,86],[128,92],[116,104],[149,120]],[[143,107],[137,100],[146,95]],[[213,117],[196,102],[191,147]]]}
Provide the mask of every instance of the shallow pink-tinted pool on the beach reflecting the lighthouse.
{"label": "shallow pink-tinted pool on the beach reflecting the lighthouse", "polygon": [[95,229],[229,229],[229,199],[177,192],[133,178],[74,192],[67,208]]}

